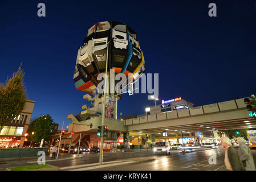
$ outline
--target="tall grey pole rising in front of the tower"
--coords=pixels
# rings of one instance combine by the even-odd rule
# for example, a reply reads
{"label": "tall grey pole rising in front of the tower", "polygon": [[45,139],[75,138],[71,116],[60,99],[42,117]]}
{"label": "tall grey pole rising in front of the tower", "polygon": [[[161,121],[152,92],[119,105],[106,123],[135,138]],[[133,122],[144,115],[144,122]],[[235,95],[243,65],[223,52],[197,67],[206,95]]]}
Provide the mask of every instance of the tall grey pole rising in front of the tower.
{"label": "tall grey pole rising in front of the tower", "polygon": [[[109,43],[109,42],[108,42]],[[100,161],[99,164],[103,163],[103,132],[104,132],[104,122],[105,122],[105,101],[106,101],[106,89],[107,89],[107,72],[108,72],[108,45],[107,45],[107,60],[105,69],[105,84],[104,84],[104,100],[103,100],[103,111],[102,111],[102,122],[101,122],[101,135],[100,135]]]}

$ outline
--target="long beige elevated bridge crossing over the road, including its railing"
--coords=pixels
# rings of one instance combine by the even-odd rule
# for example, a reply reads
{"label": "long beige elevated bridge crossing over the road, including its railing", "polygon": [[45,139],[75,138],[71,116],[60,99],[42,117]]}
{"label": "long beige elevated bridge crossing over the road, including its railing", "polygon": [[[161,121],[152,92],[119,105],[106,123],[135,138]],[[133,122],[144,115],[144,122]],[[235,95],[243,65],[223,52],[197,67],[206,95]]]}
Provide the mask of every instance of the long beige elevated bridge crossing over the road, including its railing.
{"label": "long beige elevated bridge crossing over the road, including its railing", "polygon": [[249,117],[244,98],[218,102],[189,109],[178,109],[145,117],[124,120],[129,132],[168,133],[177,131],[218,131],[256,127],[255,119]]}

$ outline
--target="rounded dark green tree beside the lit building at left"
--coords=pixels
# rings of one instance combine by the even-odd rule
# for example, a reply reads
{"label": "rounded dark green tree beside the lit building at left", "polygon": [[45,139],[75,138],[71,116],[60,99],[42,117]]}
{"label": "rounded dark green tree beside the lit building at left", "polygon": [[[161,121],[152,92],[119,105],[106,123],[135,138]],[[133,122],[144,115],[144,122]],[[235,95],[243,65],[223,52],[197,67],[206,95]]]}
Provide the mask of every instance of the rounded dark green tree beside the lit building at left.
{"label": "rounded dark green tree beside the lit building at left", "polygon": [[[27,129],[28,140],[32,143],[40,143],[41,139],[44,139],[44,142],[50,142],[52,139],[52,126],[53,119],[49,114],[43,115],[31,121],[29,128]],[[34,135],[32,135],[34,132]]]}

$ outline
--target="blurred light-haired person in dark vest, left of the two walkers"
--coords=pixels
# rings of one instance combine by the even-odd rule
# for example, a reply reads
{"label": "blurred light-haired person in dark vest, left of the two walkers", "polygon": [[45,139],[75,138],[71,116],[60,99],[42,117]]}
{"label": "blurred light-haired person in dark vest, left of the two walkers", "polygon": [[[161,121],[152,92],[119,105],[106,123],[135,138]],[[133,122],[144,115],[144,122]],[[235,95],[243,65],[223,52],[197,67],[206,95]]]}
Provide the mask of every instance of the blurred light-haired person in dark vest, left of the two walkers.
{"label": "blurred light-haired person in dark vest, left of the two walkers", "polygon": [[231,146],[231,142],[227,137],[221,137],[221,144],[225,150],[225,166],[229,171],[246,171],[238,152]]}

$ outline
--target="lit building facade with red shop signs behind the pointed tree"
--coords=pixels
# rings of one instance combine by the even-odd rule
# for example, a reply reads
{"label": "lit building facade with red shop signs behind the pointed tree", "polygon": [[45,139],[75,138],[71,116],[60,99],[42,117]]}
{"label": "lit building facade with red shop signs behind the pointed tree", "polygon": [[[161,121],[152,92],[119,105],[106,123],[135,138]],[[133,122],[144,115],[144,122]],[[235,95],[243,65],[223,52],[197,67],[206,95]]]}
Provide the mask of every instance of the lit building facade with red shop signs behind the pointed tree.
{"label": "lit building facade with red shop signs behind the pointed tree", "polygon": [[25,109],[22,110],[21,114],[3,126],[0,133],[0,148],[23,147],[34,105],[35,101],[27,100]]}

